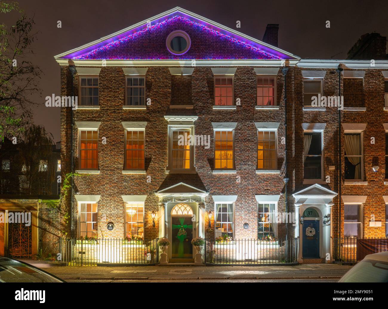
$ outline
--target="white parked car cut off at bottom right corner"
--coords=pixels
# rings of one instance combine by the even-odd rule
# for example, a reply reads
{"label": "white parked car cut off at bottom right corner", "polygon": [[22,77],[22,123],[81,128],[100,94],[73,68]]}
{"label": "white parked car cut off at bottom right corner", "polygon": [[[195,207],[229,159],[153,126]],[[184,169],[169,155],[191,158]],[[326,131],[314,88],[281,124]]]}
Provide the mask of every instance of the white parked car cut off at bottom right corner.
{"label": "white parked car cut off at bottom right corner", "polygon": [[368,254],[338,282],[388,282],[388,252]]}

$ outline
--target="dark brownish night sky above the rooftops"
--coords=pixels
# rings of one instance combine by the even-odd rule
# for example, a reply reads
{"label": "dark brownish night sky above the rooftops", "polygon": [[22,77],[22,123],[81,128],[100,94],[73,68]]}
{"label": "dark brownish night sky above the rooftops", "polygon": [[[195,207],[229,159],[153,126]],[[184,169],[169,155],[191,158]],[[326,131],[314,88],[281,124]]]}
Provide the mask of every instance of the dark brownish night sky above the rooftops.
{"label": "dark brownish night sky above the rooftops", "polygon": [[[54,55],[94,41],[165,10],[180,6],[215,22],[262,39],[267,24],[279,24],[279,48],[302,58],[345,59],[362,34],[388,36],[388,1],[130,1],[19,0],[28,15],[35,15],[32,60],[44,72],[42,98],[34,108],[36,124],[60,140],[60,108],[46,107],[45,97],[60,95],[59,65]],[[330,28],[326,28],[326,21]],[[62,22],[62,28],[57,27]],[[10,25],[10,20],[4,21]]]}

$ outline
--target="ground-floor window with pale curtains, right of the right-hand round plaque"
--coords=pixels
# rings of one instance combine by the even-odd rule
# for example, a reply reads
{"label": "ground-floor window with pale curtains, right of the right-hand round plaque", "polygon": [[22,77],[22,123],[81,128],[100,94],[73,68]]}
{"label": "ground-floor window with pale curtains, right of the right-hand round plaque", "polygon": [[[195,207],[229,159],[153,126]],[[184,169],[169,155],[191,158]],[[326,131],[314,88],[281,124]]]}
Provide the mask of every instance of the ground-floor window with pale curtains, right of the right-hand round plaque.
{"label": "ground-floor window with pale curtains, right of the right-hand round plaque", "polygon": [[257,237],[277,237],[276,204],[259,203]]}

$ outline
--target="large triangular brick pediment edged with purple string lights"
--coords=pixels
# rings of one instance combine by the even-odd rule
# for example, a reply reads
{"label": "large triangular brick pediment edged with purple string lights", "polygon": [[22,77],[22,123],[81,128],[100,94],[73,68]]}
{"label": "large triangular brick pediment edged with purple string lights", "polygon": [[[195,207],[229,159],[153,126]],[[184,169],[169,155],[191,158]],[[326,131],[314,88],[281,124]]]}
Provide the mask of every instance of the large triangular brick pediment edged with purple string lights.
{"label": "large triangular brick pediment edged with purple string lights", "polygon": [[[172,31],[185,31],[190,48],[175,55],[166,48]],[[121,31],[55,56],[56,60],[298,60],[280,48],[175,7]]]}

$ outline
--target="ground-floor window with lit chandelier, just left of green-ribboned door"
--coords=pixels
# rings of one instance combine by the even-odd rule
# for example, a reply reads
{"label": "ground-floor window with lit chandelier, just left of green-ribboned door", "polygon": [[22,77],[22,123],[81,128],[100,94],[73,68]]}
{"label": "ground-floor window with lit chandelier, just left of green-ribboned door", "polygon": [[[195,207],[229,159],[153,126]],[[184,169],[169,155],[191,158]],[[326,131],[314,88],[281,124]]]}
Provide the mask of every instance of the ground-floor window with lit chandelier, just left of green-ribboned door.
{"label": "ground-floor window with lit chandelier, just left of green-ribboned door", "polygon": [[130,239],[144,238],[144,203],[126,203],[125,233]]}

